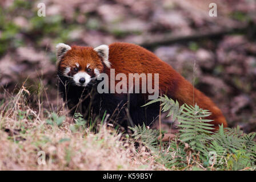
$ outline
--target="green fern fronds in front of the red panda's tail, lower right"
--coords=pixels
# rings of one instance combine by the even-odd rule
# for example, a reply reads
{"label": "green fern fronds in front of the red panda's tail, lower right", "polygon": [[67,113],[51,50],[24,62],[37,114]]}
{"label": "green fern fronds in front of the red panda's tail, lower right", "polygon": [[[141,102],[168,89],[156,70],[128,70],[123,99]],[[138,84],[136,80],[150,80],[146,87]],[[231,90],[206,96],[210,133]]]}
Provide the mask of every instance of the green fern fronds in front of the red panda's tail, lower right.
{"label": "green fern fronds in front of the red panda's tail, lower right", "polygon": [[178,119],[179,133],[168,143],[158,141],[159,131],[143,125],[131,128],[133,137],[141,139],[149,150],[154,152],[155,160],[167,168],[177,169],[215,169],[215,170],[255,170],[256,164],[256,133],[245,134],[237,126],[213,132],[213,128],[205,119],[211,113],[199,106],[183,104],[170,98],[159,97],[144,106],[162,102],[162,111],[169,111],[167,117]]}

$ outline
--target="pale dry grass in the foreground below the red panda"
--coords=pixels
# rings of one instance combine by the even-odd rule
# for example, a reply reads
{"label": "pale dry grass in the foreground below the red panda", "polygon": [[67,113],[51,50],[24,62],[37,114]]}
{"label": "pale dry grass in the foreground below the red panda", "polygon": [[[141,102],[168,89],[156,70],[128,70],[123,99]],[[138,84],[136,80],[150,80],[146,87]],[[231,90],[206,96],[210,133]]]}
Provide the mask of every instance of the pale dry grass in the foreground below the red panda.
{"label": "pale dry grass in the foreground below the red panda", "polygon": [[[27,104],[31,96],[23,86],[15,96],[5,93],[0,106],[1,170],[165,170],[145,148],[135,148],[133,139],[105,125],[97,133],[85,127],[71,130],[74,121],[63,107],[57,112],[65,116],[62,124],[49,125],[53,111],[43,109],[42,93],[35,97],[36,108]],[[38,164],[39,151],[45,152],[45,165]]]}

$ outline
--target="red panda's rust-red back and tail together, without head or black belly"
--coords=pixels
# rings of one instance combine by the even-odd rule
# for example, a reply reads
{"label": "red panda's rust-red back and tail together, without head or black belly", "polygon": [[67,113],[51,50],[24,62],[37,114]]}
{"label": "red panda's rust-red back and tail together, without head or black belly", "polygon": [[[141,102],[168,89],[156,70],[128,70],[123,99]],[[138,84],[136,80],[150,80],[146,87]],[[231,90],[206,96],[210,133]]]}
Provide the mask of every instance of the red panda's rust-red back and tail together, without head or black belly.
{"label": "red panda's rust-red back and tail together, without head or black belly", "polygon": [[[218,125],[223,123],[227,126],[226,119],[221,110],[215,106],[209,97],[199,90],[193,88],[189,81],[185,80],[169,64],[165,63],[154,53],[145,48],[129,43],[113,43],[109,46],[109,61],[111,68],[115,69],[115,74],[125,73],[158,73],[159,90],[162,94],[178,100],[180,104],[186,103],[193,105],[197,103],[201,108],[211,111],[209,119],[218,129]],[[109,73],[109,70],[106,71]],[[154,78],[153,78],[154,83]]]}

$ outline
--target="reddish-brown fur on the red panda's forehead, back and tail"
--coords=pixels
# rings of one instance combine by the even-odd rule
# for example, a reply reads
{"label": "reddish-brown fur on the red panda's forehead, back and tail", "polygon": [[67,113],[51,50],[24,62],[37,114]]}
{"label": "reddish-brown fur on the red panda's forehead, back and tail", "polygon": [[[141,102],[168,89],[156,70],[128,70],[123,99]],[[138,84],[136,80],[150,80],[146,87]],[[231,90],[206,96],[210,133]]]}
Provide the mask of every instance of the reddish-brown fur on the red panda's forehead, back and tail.
{"label": "reddish-brown fur on the red panda's forehead, back and tail", "polygon": [[[205,94],[195,89],[185,78],[176,72],[169,64],[160,60],[154,53],[145,48],[129,43],[113,43],[109,46],[109,61],[115,74],[125,73],[159,73],[159,90],[162,94],[176,99],[180,104],[197,104],[212,113],[208,119],[213,119],[215,129],[223,123],[227,127],[226,119],[221,110],[206,97]],[[91,67],[98,68],[100,72],[110,75],[109,68],[103,68],[102,60],[90,47],[73,46],[66,53],[61,62],[60,69],[79,63],[85,69],[88,63]],[[117,82],[116,82],[117,83]],[[154,83],[154,80],[153,80]]]}

